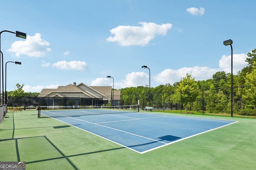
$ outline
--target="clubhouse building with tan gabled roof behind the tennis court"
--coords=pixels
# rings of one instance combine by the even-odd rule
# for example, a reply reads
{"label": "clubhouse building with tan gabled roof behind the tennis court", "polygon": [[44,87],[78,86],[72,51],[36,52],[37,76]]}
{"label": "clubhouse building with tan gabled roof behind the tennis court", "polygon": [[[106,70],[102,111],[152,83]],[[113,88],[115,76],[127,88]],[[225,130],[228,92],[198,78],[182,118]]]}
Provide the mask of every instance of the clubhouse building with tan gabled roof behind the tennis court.
{"label": "clubhouse building with tan gabled roof behind the tennis court", "polygon": [[113,98],[111,86],[76,85],[74,82],[56,89],[42,89],[38,102],[41,106],[102,106],[107,103],[118,106],[120,94],[120,90],[114,90]]}

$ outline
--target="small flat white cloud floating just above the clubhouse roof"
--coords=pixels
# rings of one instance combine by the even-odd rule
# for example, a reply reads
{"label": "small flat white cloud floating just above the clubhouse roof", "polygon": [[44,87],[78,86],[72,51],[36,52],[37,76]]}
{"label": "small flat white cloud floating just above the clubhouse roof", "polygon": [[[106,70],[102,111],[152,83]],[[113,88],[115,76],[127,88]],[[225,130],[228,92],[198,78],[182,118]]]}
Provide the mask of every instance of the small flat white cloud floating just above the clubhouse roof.
{"label": "small flat white cloud floating just above the clubhouse roof", "polygon": [[84,61],[58,61],[52,64],[52,67],[56,67],[60,70],[88,70],[87,63]]}

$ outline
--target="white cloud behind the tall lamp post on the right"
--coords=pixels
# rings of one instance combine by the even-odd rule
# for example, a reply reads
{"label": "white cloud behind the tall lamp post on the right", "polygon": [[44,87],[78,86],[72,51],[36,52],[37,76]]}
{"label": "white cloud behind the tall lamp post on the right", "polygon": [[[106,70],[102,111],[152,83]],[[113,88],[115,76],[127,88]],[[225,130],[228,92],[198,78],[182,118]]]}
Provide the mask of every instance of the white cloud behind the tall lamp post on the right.
{"label": "white cloud behind the tall lamp post on the right", "polygon": [[[233,74],[236,74],[242,68],[246,67],[246,54],[233,54]],[[225,72],[231,72],[231,55],[223,55],[219,61],[219,67]]]}

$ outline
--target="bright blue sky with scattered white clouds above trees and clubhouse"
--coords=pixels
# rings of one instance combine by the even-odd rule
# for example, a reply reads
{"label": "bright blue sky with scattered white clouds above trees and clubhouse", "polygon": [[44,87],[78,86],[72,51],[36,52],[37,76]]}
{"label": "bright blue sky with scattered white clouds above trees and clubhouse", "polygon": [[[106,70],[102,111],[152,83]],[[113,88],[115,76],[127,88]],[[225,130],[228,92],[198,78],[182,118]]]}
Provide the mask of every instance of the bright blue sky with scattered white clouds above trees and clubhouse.
{"label": "bright blue sky with scattered white clouds above trees and clubhouse", "polygon": [[[178,82],[191,74],[207,80],[217,71],[247,66],[256,48],[252,0],[1,0],[1,34],[7,91],[24,84],[40,92],[83,82],[126,88]],[[2,62],[2,61],[1,61]],[[5,68],[5,66],[4,66]],[[5,72],[4,72],[5,74]],[[2,76],[1,76],[2,78]],[[2,80],[1,80],[2,86]],[[2,88],[1,88],[2,90]]]}

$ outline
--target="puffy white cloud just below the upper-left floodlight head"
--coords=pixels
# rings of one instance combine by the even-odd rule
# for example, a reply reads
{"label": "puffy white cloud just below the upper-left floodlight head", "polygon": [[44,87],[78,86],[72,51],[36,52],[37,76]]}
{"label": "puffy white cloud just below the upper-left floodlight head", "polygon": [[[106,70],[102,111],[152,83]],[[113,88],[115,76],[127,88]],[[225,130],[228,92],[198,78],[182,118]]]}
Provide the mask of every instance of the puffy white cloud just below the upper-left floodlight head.
{"label": "puffy white cloud just below the upper-left floodlight head", "polygon": [[25,41],[15,41],[8,52],[15,53],[16,57],[20,55],[28,55],[30,57],[43,57],[51,51],[50,48],[46,48],[50,43],[41,38],[40,33],[36,33],[34,36],[27,36]]}

